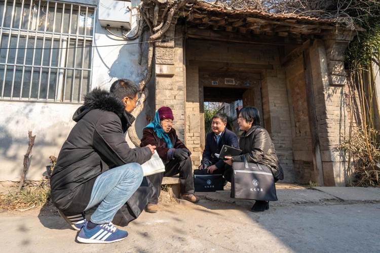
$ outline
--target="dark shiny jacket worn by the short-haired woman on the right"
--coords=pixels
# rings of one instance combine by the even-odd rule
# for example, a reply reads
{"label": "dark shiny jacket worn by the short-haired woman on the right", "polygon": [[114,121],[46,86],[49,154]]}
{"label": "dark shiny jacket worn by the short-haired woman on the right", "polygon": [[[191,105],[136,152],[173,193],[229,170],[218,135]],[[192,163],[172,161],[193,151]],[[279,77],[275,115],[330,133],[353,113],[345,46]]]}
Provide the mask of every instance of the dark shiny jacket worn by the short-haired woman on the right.
{"label": "dark shiny jacket worn by the short-haired woman on the right", "polygon": [[250,130],[244,132],[239,139],[242,155],[232,157],[232,161],[254,162],[267,165],[271,168],[275,179],[284,179],[284,172],[276,155],[275,146],[267,130],[259,125],[254,125]]}

